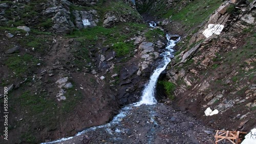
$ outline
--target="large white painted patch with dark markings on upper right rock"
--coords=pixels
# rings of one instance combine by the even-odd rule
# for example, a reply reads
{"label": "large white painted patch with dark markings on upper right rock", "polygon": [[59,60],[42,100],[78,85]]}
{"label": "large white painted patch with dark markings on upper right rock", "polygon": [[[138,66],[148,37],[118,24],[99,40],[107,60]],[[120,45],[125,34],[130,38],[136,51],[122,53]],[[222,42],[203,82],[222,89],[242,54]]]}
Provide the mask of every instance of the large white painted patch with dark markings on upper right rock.
{"label": "large white painted patch with dark markings on upper right rock", "polygon": [[203,35],[208,38],[213,34],[221,34],[221,31],[223,30],[224,26],[223,25],[214,25],[214,24],[209,24],[208,28],[204,30]]}

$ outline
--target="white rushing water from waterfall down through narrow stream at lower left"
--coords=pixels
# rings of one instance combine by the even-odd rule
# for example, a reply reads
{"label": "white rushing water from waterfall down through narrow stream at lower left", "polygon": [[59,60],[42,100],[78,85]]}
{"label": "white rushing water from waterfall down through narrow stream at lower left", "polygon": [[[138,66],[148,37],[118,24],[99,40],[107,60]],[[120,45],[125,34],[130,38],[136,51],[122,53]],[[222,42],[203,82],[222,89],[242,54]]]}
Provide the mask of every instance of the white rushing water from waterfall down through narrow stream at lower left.
{"label": "white rushing water from waterfall down through narrow stream at lower left", "polygon": [[[155,28],[157,25],[155,22],[150,22],[150,27]],[[170,34],[166,34],[166,39],[167,39],[167,44],[165,47],[165,51],[163,53],[160,54],[160,56],[163,57],[162,61],[160,62],[160,65],[154,70],[153,74],[150,77],[150,81],[146,84],[143,92],[142,92],[142,96],[141,96],[141,100],[137,103],[131,104],[129,106],[126,106],[124,108],[122,108],[120,110],[120,113],[117,114],[113,120],[106,125],[101,125],[101,126],[96,126],[96,127],[91,127],[89,129],[86,129],[82,132],[77,133],[75,136],[79,136],[83,133],[86,132],[90,132],[90,131],[95,131],[96,129],[100,129],[100,128],[105,128],[106,131],[108,131],[108,129],[112,126],[112,125],[117,125],[121,122],[121,119],[123,117],[125,117],[127,115],[127,113],[129,113],[129,111],[132,109],[132,106],[141,106],[143,104],[145,105],[153,105],[156,104],[157,101],[155,99],[155,89],[156,89],[156,83],[157,80],[160,76],[160,74],[162,73],[162,71],[166,68],[166,66],[168,65],[168,63],[170,62],[170,58],[173,58],[174,56],[172,55],[174,50],[173,47],[175,46],[175,44],[180,40],[180,37],[177,37],[173,40],[171,39],[172,35]],[[153,116],[153,114],[152,114]],[[154,121],[153,118],[151,118],[152,121]],[[156,122],[154,122],[156,123]],[[156,124],[155,124],[156,125]],[[116,131],[118,132],[119,130],[116,129]],[[74,136],[74,137],[75,137]],[[69,139],[72,139],[73,137],[67,137],[67,138],[61,138],[55,141],[50,141],[50,142],[45,142],[42,144],[50,144],[50,143],[57,143],[57,142],[61,142],[61,141],[66,141]]]}

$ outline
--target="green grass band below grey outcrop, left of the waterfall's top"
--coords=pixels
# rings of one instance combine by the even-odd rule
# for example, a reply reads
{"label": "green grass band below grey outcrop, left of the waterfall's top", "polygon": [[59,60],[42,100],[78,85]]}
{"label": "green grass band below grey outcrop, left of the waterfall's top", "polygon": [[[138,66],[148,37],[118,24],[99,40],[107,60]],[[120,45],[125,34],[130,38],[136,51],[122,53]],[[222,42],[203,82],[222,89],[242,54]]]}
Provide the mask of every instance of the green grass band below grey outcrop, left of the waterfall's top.
{"label": "green grass band below grey outcrop, left of the waterfall's top", "polygon": [[[113,28],[96,26],[73,31],[67,37],[76,38],[81,44],[89,46],[102,42],[103,46],[110,46],[117,53],[117,57],[123,57],[129,54],[134,47],[130,38],[137,36],[138,32],[146,28],[146,25],[140,23],[120,23]],[[127,40],[130,42],[125,42]]]}

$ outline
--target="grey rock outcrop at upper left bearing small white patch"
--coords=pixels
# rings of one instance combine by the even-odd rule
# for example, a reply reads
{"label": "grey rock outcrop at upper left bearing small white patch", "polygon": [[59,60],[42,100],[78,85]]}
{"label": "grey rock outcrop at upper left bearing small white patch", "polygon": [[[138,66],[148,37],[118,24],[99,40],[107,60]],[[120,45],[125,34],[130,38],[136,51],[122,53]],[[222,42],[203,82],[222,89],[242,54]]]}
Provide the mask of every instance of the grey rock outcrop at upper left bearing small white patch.
{"label": "grey rock outcrop at upper left bearing small white patch", "polygon": [[[89,3],[88,1],[78,1],[79,3]],[[90,2],[94,3],[94,2]],[[75,28],[83,29],[97,26],[98,19],[96,10],[90,11],[70,11],[71,5],[69,1],[62,0],[60,3],[53,1],[53,7],[47,8],[42,12],[47,17],[51,17],[53,22],[53,31],[56,33],[70,33]],[[71,16],[75,19],[72,21]],[[52,17],[53,16],[53,17]],[[74,23],[73,23],[74,22]]]}

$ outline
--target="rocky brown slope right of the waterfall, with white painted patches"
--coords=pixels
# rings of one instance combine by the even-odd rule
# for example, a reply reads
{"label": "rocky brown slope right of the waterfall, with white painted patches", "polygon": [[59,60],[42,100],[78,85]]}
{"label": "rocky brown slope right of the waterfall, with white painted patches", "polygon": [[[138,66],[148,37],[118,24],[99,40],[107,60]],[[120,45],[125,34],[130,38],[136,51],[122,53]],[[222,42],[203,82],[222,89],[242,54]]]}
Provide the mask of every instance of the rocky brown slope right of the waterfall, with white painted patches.
{"label": "rocky brown slope right of the waterfall, with white painted patches", "polygon": [[[201,26],[184,34],[166,74],[177,86],[176,104],[215,129],[255,127],[254,19],[255,1],[222,3]],[[206,117],[207,107],[219,114]]]}

